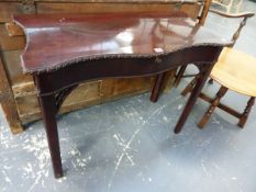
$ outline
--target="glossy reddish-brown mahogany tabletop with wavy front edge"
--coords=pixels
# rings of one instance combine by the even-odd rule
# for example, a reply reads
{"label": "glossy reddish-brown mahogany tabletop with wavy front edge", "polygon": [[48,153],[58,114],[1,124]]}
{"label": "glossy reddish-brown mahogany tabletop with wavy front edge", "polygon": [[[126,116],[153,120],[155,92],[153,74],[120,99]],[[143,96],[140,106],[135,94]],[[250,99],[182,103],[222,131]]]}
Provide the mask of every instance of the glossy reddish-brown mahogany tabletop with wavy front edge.
{"label": "glossy reddish-brown mahogany tabletop with wavy front edge", "polygon": [[182,12],[16,15],[26,33],[24,72],[102,57],[145,57],[226,42]]}

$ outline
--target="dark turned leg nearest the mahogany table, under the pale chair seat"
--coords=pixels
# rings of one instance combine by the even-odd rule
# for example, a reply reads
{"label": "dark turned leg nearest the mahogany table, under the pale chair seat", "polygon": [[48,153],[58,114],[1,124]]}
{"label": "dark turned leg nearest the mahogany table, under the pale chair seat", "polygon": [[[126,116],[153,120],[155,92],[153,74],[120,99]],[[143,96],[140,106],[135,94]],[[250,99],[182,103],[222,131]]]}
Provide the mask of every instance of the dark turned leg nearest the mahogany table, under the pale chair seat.
{"label": "dark turned leg nearest the mahogany table, under the pale chair seat", "polygon": [[209,106],[208,111],[202,116],[201,121],[199,122],[199,124],[198,124],[199,128],[203,128],[204,125],[208,123],[208,121],[211,117],[213,111],[220,104],[221,98],[225,95],[226,91],[227,91],[227,88],[225,88],[223,86],[219,89],[215,99],[212,101],[212,103]]}

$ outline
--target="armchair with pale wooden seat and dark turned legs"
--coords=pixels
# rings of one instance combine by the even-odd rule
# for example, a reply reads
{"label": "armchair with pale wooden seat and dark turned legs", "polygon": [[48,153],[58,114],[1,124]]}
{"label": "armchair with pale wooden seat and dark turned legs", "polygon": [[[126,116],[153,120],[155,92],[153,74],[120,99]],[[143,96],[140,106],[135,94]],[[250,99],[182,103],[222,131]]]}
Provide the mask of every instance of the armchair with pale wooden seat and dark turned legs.
{"label": "armchair with pale wooden seat and dark turned legs", "polygon": [[[237,125],[240,127],[244,127],[251,109],[254,105],[256,97],[256,58],[243,52],[236,50],[232,47],[235,45],[240,36],[241,30],[245,26],[247,19],[254,16],[254,13],[244,12],[237,14],[226,14],[215,10],[210,11],[224,18],[243,18],[243,20],[241,21],[238,29],[233,34],[232,45],[222,50],[218,59],[218,63],[214,65],[211,71],[211,80],[209,81],[209,83],[212,83],[212,81],[215,80],[221,84],[221,88],[218,91],[215,98],[211,99],[202,92],[199,94],[199,98],[211,103],[211,105],[199,122],[198,126],[202,128],[209,121],[215,108],[220,108],[223,111],[230,113],[231,115],[237,117],[240,120]],[[182,77],[186,77],[183,76],[186,68],[186,65],[180,67],[175,81],[176,86],[179,84],[179,81]],[[182,95],[186,95],[188,92],[191,92],[193,90],[193,87],[194,84],[197,84],[197,81],[198,79],[200,79],[200,74],[194,76],[192,81],[181,92]],[[187,77],[191,77],[191,75]],[[241,94],[251,97],[247,106],[245,108],[243,113],[240,113],[220,102],[221,98],[225,95],[229,89],[236,91]]]}

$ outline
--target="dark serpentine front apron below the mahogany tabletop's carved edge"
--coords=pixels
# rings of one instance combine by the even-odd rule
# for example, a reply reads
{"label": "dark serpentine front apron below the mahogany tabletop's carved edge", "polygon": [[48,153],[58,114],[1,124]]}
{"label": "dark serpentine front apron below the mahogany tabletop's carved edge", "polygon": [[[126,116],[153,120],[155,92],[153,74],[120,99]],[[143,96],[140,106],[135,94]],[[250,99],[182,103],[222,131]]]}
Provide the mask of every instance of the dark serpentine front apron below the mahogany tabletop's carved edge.
{"label": "dark serpentine front apron below the mahogany tabletop's carved edge", "polygon": [[33,74],[40,97],[55,94],[68,87],[104,78],[132,78],[162,74],[188,64],[215,63],[222,46],[201,45],[169,54],[144,57],[104,57]]}

